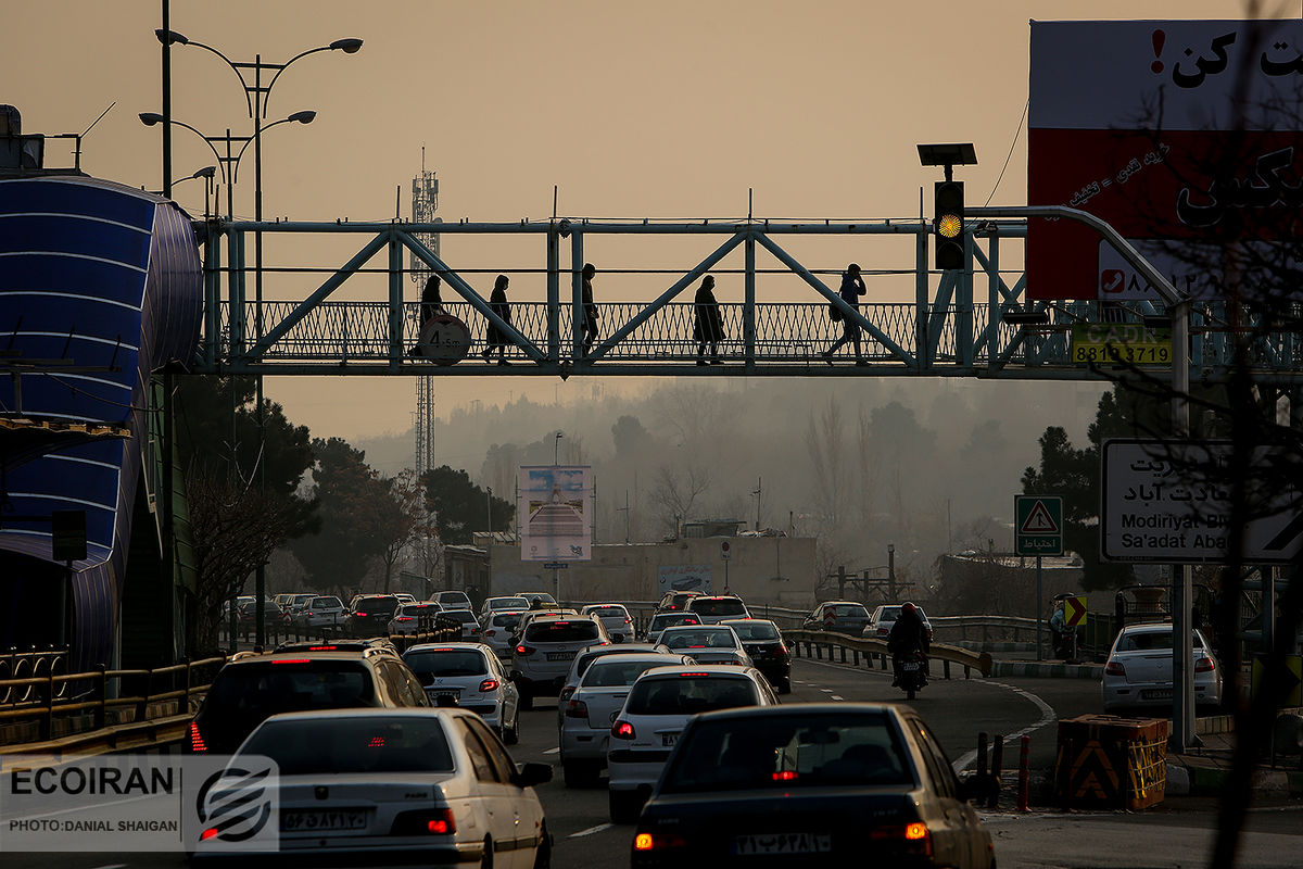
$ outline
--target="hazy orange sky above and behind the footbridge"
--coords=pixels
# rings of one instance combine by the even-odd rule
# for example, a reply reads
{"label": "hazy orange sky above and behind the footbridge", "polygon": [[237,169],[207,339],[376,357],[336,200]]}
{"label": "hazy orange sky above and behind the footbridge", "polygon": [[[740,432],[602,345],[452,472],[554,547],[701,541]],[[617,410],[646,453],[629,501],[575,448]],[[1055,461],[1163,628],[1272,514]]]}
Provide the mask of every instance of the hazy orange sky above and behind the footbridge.
{"label": "hazy orange sky above and behind the footbridge", "polygon": [[[971,203],[993,192],[997,205],[1025,202],[1019,119],[1029,20],[1237,18],[1243,9],[1226,0],[173,0],[171,23],[237,61],[259,52],[285,61],[334,39],[365,40],[352,56],[306,57],[276,83],[271,120],[300,109],[318,117],[265,139],[268,218],[387,220],[396,186],[408,216],[425,146],[446,220],[546,218],[552,185],[564,215],[737,216],[753,188],[758,216],[866,219],[919,214],[920,188],[938,177],[919,165],[919,142],[976,145],[980,163],[962,176]],[[1299,4],[1264,12],[1293,17]],[[159,189],[160,128],[137,115],[162,111],[160,0],[7,3],[4,20],[0,102],[20,108],[23,132],[81,132],[116,100],[86,138],[82,168]],[[172,76],[177,120],[208,134],[251,132],[240,83],[219,59],[175,48]],[[47,164],[70,164],[60,149],[50,143]],[[197,137],[176,132],[175,178],[211,163]],[[251,219],[251,159],[242,169],[236,215]],[[203,212],[201,181],[175,195]],[[444,253],[453,266],[459,254],[476,267],[542,264],[541,241],[504,248],[496,262],[483,245],[446,241]],[[315,249],[305,255],[319,261],[301,264],[343,262]],[[658,255],[614,241],[589,246],[589,258],[610,266]],[[912,255],[885,248],[830,250],[826,264],[848,258],[865,268],[912,266]],[[314,287],[276,284],[267,297],[301,298]],[[599,298],[640,292],[598,281]],[[721,301],[739,296],[740,285],[721,281]],[[513,281],[512,301],[541,298],[541,281]],[[645,384],[619,378],[605,387]],[[590,390],[581,378],[447,378],[438,401],[442,414],[472,399],[566,401]],[[268,380],[267,395],[321,436],[403,431],[413,410],[410,378],[280,378]]]}

